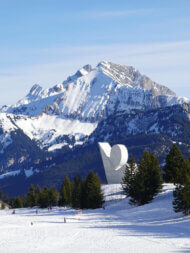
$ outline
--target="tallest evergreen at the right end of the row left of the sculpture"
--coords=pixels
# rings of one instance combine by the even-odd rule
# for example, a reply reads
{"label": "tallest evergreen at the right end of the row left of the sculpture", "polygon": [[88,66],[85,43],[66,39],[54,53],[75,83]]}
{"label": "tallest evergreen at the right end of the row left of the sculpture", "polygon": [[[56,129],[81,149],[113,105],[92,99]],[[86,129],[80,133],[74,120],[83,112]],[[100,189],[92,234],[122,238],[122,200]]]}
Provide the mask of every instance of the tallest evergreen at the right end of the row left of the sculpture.
{"label": "tallest evergreen at the right end of the row left of the sculpture", "polygon": [[86,208],[100,208],[104,203],[99,178],[91,171],[85,181]]}

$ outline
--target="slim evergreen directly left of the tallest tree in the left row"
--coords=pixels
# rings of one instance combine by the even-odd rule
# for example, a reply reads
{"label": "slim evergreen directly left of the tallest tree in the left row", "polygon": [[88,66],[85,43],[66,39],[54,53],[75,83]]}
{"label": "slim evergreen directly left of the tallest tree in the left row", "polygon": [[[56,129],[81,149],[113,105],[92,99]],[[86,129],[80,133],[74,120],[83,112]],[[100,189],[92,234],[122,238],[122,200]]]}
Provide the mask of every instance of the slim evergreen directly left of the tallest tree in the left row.
{"label": "slim evergreen directly left of the tallest tree in the left row", "polygon": [[80,177],[75,177],[72,189],[72,207],[81,208],[81,180]]}

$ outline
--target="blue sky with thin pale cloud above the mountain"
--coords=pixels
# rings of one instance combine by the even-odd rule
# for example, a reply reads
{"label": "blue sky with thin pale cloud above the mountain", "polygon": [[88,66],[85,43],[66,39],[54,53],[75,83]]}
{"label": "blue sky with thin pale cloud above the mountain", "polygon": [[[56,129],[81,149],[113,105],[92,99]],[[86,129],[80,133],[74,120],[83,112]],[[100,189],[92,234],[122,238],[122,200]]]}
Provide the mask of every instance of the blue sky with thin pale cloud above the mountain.
{"label": "blue sky with thin pale cloud above the mountain", "polygon": [[190,97],[190,1],[0,0],[0,105],[101,60]]}

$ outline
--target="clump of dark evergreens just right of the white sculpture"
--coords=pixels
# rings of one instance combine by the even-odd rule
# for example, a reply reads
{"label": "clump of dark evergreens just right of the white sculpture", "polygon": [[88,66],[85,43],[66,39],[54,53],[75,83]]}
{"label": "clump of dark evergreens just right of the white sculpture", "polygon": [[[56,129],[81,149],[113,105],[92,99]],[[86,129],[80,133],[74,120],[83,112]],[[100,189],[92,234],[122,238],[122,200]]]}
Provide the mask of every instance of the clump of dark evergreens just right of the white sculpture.
{"label": "clump of dark evergreens just right of the white sculpture", "polygon": [[131,204],[149,203],[162,189],[162,175],[158,159],[145,151],[137,165],[130,156],[123,178],[123,190]]}

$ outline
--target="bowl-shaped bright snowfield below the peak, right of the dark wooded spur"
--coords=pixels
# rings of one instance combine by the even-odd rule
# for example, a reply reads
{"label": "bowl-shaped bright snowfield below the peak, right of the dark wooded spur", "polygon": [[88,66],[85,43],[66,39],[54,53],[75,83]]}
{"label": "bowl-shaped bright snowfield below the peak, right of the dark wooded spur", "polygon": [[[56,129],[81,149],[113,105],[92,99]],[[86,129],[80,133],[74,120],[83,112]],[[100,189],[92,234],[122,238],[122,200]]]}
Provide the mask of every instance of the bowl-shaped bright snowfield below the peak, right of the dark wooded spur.
{"label": "bowl-shaped bright snowfield below the peak, right of the dark wooded spur", "polygon": [[49,147],[49,151],[68,145],[68,140],[61,138],[65,135],[70,139],[74,138],[74,143],[70,144],[70,147],[82,144],[85,137],[97,127],[97,123],[80,122],[46,114],[33,118],[20,117],[15,121],[30,139],[37,141],[41,148]]}

